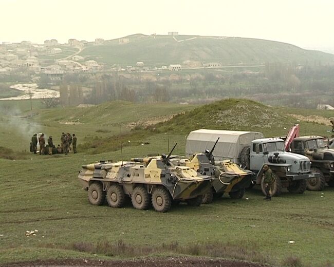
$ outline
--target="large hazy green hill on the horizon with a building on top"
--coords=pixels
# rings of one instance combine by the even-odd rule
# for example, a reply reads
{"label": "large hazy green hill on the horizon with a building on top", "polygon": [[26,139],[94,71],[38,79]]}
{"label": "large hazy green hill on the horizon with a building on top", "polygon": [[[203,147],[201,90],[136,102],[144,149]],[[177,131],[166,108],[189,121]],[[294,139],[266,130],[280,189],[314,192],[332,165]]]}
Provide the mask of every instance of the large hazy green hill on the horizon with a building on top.
{"label": "large hazy green hill on the horizon with a building on top", "polygon": [[169,35],[143,34],[124,38],[129,42],[106,41],[104,45],[85,48],[80,55],[106,64],[134,66],[137,61],[143,61],[146,66],[157,67],[184,61],[220,62],[222,65],[334,64],[332,54],[268,40],[190,35],[179,35],[174,39]]}

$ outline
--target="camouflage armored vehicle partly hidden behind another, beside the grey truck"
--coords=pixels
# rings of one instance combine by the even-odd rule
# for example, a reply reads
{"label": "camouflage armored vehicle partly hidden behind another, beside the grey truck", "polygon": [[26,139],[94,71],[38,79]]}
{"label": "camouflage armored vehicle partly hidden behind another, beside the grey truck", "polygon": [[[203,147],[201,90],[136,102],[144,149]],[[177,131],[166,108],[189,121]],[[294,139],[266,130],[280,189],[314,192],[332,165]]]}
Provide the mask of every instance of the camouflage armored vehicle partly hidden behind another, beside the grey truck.
{"label": "camouflage armored vehicle partly hidden behind another, beside the grey truck", "polygon": [[245,188],[252,182],[254,173],[245,170],[230,160],[215,161],[212,156],[219,138],[209,151],[196,153],[190,159],[172,158],[172,162],[179,166],[191,167],[202,175],[213,177],[212,186],[207,194],[203,196],[203,203],[211,203],[214,196],[221,197],[228,193],[231,198],[243,198]]}

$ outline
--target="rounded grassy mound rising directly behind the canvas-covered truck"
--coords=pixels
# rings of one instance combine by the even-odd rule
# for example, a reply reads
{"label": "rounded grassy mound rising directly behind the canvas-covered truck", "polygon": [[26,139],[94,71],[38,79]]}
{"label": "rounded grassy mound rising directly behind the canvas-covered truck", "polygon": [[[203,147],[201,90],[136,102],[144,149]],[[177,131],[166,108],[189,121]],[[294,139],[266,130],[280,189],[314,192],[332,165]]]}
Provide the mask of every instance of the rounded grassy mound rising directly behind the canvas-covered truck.
{"label": "rounded grassy mound rising directly behind the canvas-covered truck", "polygon": [[162,131],[208,129],[257,130],[283,128],[293,124],[290,116],[273,107],[244,99],[226,99],[200,106],[157,125]]}

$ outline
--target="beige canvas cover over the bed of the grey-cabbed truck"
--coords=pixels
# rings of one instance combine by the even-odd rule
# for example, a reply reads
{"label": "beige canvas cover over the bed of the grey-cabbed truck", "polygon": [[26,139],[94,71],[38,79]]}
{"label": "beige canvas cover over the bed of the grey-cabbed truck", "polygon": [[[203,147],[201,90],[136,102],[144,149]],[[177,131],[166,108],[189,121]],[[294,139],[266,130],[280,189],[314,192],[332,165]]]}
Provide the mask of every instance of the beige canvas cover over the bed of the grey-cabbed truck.
{"label": "beige canvas cover over the bed of the grey-cabbed truck", "polygon": [[240,151],[245,146],[250,146],[255,139],[264,138],[262,132],[255,131],[228,131],[199,129],[191,131],[185,143],[185,156],[190,157],[194,153],[211,150],[219,137],[219,141],[213,151],[215,160],[232,160],[238,163]]}

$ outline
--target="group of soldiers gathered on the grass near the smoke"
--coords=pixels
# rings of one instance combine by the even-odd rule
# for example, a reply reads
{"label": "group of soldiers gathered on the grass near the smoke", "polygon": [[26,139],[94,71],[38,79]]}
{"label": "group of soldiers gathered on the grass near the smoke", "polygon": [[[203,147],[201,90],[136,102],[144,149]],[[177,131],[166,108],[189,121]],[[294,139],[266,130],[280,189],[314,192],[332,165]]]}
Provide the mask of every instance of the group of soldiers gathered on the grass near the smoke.
{"label": "group of soldiers gathered on the grass near the smoke", "polygon": [[57,147],[53,144],[52,136],[47,139],[47,144],[45,143],[44,133],[37,137],[37,133],[31,137],[30,143],[30,151],[33,154],[37,154],[37,144],[40,144],[40,155],[52,155],[52,154],[65,154],[67,155],[68,152],[71,150],[70,146],[72,145],[73,153],[77,153],[77,137],[75,133],[71,135],[69,132],[65,133],[62,132],[62,136],[60,138],[60,144]]}

